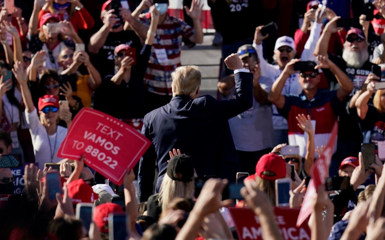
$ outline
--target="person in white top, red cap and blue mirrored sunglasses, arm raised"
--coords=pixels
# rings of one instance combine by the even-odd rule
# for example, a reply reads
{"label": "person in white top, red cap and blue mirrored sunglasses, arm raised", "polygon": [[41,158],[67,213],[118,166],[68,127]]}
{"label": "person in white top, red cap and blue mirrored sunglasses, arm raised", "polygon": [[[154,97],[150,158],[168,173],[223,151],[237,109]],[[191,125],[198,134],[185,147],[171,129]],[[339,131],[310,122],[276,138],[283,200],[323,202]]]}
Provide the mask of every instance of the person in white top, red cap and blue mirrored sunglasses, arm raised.
{"label": "person in white top, red cap and blue mirrored sunglasses, arm raised", "polygon": [[[35,162],[39,164],[40,169],[43,169],[45,163],[57,163],[61,160],[56,157],[56,154],[67,135],[67,128],[57,125],[59,98],[54,95],[45,95],[39,98],[39,119],[28,88],[27,74],[22,64],[20,62],[15,63],[12,72],[21,86],[25,103],[25,116],[30,127],[35,153]],[[70,118],[67,119],[67,124],[70,124],[70,121]]]}

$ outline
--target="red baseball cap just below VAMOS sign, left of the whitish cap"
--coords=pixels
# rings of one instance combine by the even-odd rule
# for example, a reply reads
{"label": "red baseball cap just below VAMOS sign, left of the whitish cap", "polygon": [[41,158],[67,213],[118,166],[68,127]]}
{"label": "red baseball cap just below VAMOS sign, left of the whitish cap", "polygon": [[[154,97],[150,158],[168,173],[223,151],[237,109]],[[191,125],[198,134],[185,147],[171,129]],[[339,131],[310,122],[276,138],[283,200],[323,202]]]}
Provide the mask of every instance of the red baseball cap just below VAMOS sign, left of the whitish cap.
{"label": "red baseball cap just below VAMOS sign, left of the whitish cap", "polygon": [[99,196],[94,193],[92,187],[84,182],[83,179],[78,179],[67,184],[68,195],[72,199],[72,204],[79,202],[94,203],[94,200],[99,199]]}

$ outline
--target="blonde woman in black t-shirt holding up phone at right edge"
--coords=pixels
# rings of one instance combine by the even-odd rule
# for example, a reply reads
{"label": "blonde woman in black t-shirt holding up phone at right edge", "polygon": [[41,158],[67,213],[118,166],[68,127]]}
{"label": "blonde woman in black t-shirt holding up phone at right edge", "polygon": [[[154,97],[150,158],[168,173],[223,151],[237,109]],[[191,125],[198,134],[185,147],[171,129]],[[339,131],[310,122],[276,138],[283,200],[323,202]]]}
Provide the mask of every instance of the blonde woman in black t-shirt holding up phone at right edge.
{"label": "blonde woman in black t-shirt holding up phone at right edge", "polygon": [[[369,103],[374,94],[373,104]],[[375,82],[368,83],[367,91],[362,93],[356,103],[357,114],[364,143],[385,141],[385,89],[375,89]]]}

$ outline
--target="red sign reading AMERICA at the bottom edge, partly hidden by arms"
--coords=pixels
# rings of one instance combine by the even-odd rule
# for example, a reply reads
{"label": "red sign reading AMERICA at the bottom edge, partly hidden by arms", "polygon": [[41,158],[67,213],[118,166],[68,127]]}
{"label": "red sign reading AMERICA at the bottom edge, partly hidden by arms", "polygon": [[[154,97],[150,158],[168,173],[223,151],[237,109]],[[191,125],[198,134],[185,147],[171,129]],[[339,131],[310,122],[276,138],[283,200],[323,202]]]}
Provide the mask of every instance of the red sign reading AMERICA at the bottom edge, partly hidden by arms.
{"label": "red sign reading AMERICA at the bottom edge, partly hidden by arms", "polygon": [[[229,207],[229,210],[233,216],[239,240],[266,239],[262,236],[259,219],[252,210],[238,207]],[[275,207],[274,212],[283,239],[310,240],[310,228],[306,223],[300,227],[295,226],[300,209]]]}

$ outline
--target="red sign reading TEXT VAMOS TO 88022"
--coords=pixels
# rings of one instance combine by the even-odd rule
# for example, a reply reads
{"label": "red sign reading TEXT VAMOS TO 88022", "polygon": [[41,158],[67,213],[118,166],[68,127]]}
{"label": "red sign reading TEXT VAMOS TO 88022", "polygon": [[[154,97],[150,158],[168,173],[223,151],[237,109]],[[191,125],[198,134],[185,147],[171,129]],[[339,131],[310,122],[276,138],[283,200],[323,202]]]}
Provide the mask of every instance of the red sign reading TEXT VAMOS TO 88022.
{"label": "red sign reading TEXT VAMOS TO 88022", "polygon": [[58,157],[80,159],[115,184],[121,185],[127,167],[133,168],[151,142],[122,121],[83,108],[74,118]]}

